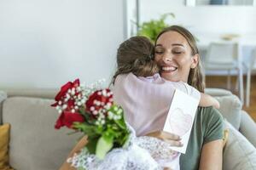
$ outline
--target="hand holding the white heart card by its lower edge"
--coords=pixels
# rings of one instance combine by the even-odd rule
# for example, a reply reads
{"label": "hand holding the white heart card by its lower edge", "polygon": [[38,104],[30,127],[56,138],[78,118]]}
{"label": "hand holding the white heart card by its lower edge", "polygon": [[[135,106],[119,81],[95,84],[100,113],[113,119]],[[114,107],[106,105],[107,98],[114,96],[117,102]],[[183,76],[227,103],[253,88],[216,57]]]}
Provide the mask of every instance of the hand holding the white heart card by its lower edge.
{"label": "hand holding the white heart card by its lower edge", "polygon": [[171,144],[172,146],[183,146],[183,144],[180,142],[181,138],[177,134],[167,133],[164,131],[155,131],[153,133],[146,134],[146,136],[151,136],[157,139],[164,140],[165,142]]}

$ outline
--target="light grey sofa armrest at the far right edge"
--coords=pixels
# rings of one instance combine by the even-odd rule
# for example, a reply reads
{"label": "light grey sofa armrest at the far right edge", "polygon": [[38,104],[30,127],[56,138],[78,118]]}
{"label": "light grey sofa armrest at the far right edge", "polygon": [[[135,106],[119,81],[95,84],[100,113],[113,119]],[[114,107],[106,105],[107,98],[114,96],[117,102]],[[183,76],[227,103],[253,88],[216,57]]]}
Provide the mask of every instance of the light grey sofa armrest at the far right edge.
{"label": "light grey sofa armrest at the far right edge", "polygon": [[256,147],[256,123],[246,111],[241,111],[240,132]]}

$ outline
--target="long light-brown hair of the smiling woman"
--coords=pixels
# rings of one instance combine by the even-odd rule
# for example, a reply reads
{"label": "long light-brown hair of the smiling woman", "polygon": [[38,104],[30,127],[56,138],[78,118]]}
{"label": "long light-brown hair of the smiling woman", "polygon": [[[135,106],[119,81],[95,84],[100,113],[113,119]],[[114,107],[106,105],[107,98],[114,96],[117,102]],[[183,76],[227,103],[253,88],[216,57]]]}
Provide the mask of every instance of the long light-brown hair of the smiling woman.
{"label": "long light-brown hair of the smiling woman", "polygon": [[[181,34],[184,38],[186,38],[187,42],[189,43],[189,46],[192,51],[191,55],[194,56],[195,54],[199,54],[199,50],[198,50],[198,48],[196,46],[196,42],[195,42],[195,37],[191,34],[191,32],[189,32],[183,26],[169,26],[169,27],[165,28],[156,37],[156,42],[157,42],[158,38],[163,33],[167,32],[167,31],[176,31],[177,33]],[[198,89],[200,92],[202,92],[202,93],[204,92],[205,83],[203,80],[200,58],[198,60],[198,65],[194,69],[191,68],[189,71],[188,84],[190,86],[193,86],[194,88]]]}

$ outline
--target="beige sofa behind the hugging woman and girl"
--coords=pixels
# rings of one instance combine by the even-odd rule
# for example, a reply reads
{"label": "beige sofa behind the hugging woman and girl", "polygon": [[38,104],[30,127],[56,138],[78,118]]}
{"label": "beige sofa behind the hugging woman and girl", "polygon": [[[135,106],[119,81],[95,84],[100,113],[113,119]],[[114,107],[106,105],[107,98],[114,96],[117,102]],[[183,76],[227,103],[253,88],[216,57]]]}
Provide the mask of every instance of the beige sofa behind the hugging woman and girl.
{"label": "beige sofa behind the hugging woman and girl", "polygon": [[[68,136],[67,128],[54,129],[58,113],[49,105],[56,92],[48,89],[0,92],[0,123],[11,124],[9,163],[15,169],[56,170],[79,138],[79,134]],[[221,89],[207,89],[207,93],[217,96],[224,117],[255,147],[256,126],[250,116],[241,111],[239,99]],[[228,167],[225,156],[224,153],[224,167]]]}

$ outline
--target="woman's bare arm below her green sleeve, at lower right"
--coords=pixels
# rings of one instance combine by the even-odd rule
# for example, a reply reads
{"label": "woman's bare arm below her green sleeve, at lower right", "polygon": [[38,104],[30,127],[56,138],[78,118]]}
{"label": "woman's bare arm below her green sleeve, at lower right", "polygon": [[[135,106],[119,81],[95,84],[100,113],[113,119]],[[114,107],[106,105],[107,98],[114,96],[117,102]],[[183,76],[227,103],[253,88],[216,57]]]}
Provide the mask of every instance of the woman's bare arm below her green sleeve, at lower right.
{"label": "woman's bare arm below her green sleeve, at lower right", "polygon": [[223,140],[218,139],[204,144],[201,150],[199,169],[221,170],[223,155]]}

